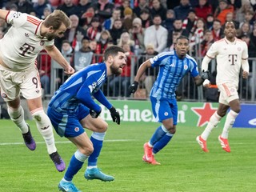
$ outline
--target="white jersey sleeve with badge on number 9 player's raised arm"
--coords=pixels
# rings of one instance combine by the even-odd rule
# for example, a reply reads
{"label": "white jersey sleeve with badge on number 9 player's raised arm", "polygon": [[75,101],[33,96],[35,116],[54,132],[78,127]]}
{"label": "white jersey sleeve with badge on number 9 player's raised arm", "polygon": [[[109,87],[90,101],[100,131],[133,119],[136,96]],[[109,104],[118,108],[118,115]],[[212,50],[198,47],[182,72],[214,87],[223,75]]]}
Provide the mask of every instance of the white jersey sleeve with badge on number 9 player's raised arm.
{"label": "white jersey sleeve with badge on number 9 player's raised arm", "polygon": [[10,12],[6,15],[6,22],[12,26],[18,27],[26,23],[26,17],[27,14],[10,10]]}

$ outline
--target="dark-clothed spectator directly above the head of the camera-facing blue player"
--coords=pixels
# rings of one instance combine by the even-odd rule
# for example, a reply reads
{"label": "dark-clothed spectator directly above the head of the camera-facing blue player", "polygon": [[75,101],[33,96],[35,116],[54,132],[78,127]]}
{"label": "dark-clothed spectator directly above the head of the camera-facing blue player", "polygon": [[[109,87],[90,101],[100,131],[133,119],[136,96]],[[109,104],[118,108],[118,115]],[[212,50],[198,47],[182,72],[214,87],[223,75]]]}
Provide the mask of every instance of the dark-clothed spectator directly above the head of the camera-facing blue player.
{"label": "dark-clothed spectator directly above the head of the camera-facing blue player", "polygon": [[189,32],[186,29],[182,29],[182,19],[174,20],[174,30],[171,30],[168,32],[167,47],[170,47],[170,46],[174,47],[174,42],[173,42],[174,33],[178,33],[179,35],[189,37]]}

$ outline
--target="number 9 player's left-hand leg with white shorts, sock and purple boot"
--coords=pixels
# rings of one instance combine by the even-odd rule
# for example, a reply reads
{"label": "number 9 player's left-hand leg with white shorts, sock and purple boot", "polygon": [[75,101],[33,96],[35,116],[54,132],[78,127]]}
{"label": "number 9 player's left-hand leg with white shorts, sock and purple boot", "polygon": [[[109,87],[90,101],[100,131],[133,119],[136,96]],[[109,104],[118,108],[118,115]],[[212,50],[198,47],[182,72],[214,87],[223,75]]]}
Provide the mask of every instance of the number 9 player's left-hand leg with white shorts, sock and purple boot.
{"label": "number 9 player's left-hand leg with white shorts, sock and purple boot", "polygon": [[7,103],[7,111],[10,119],[21,130],[26,146],[30,150],[35,150],[36,144],[31,135],[30,127],[25,122],[24,110],[20,104],[20,88],[18,86],[18,82],[16,84],[14,81],[14,77],[16,76],[18,76],[18,78],[22,78],[19,77],[22,73],[8,71],[7,69],[3,70],[2,66],[0,68],[0,92],[2,94],[2,98]]}

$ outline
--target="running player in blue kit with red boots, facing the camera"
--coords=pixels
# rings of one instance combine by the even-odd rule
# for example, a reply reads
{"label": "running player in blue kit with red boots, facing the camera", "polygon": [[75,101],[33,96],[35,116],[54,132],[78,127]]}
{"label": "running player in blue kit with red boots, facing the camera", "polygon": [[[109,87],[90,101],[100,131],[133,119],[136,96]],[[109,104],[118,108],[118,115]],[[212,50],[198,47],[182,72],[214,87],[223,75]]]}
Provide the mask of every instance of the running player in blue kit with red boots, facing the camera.
{"label": "running player in blue kit with red boots, facing the camera", "polygon": [[175,90],[182,78],[190,73],[197,86],[209,77],[209,72],[198,73],[198,64],[187,54],[189,50],[189,39],[180,36],[175,44],[175,50],[163,52],[154,58],[143,62],[139,67],[134,83],[130,85],[130,93],[138,89],[138,82],[142,74],[149,67],[159,66],[158,78],[150,91],[150,100],[156,122],[162,125],[155,130],[149,142],[144,144],[144,155],[142,160],[153,165],[159,165],[154,158],[159,150],[170,142],[176,132],[178,106],[175,98]]}

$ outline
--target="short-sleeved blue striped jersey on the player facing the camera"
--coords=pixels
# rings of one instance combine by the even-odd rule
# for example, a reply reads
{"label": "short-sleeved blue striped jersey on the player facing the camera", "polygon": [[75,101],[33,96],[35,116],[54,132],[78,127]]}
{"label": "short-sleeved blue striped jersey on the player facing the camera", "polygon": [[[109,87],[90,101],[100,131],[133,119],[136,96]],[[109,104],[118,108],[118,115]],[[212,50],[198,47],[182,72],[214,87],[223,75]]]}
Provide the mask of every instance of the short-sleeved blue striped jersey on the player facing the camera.
{"label": "short-sleeved blue striped jersey on the player facing the camera", "polygon": [[150,91],[154,98],[175,98],[175,91],[182,78],[190,72],[192,77],[198,76],[198,64],[194,58],[178,58],[176,51],[163,52],[150,58],[152,67],[159,66],[158,78]]}

